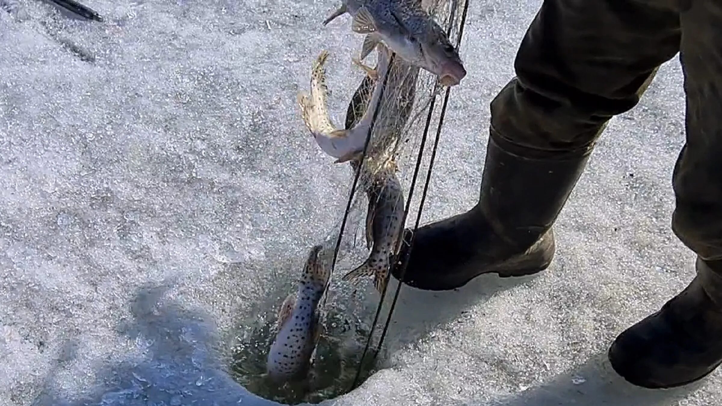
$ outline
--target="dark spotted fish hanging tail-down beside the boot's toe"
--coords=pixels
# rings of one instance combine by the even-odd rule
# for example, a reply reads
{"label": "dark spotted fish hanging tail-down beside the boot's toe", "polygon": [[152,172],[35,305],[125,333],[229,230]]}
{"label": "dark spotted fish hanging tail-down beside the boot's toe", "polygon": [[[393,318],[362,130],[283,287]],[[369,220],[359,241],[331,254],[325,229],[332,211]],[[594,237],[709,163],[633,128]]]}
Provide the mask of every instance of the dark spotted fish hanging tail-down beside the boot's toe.
{"label": "dark spotted fish hanging tail-down beside the boot's toe", "polygon": [[388,160],[373,176],[367,196],[366,246],[371,252],[363,264],[344,275],[342,280],[353,282],[373,275],[373,285],[383,293],[393,256],[399,254],[398,241],[404,225],[404,193],[396,178],[393,160]]}

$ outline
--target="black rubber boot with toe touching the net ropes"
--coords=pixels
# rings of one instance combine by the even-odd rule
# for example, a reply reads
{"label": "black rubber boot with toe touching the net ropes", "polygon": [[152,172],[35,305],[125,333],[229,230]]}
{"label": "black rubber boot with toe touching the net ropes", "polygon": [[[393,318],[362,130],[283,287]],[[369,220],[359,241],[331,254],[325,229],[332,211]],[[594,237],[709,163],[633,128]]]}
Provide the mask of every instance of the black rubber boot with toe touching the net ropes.
{"label": "black rubber boot with toe touching the net ropes", "polygon": [[[492,130],[477,205],[419,228],[410,250],[412,231],[404,230],[406,241],[391,269],[397,280],[422,290],[451,290],[484,273],[512,277],[549,267],[554,256],[552,224],[591,148],[563,160],[539,159],[508,152],[495,137]],[[404,267],[399,264],[406,255],[401,277]]]}

